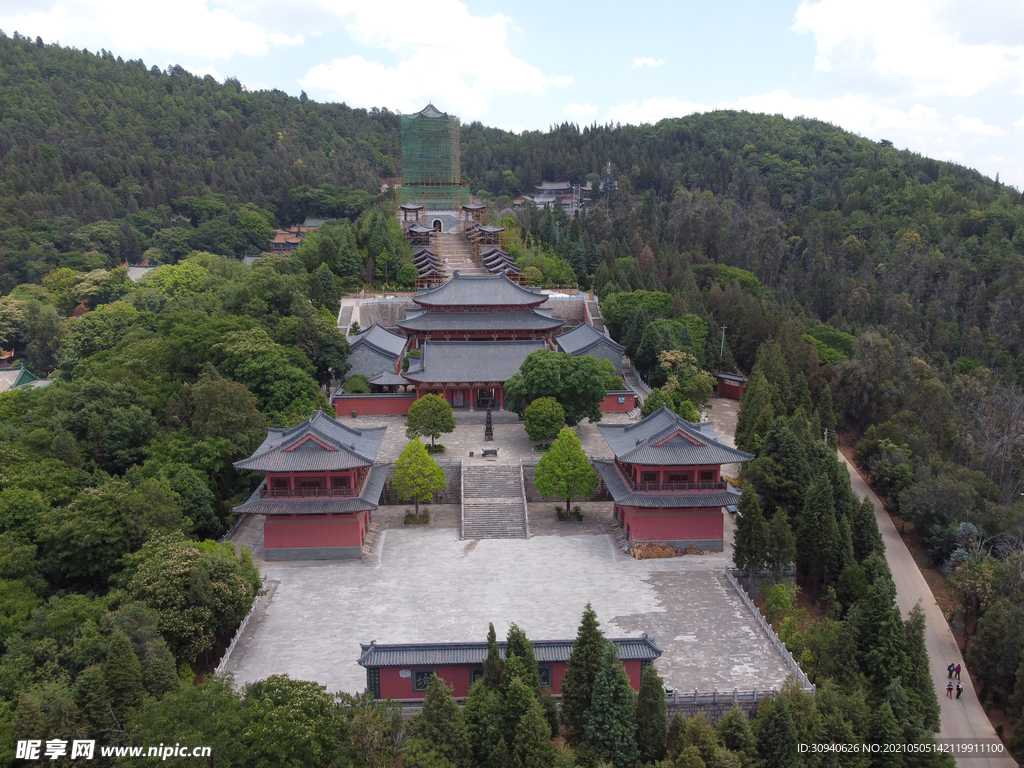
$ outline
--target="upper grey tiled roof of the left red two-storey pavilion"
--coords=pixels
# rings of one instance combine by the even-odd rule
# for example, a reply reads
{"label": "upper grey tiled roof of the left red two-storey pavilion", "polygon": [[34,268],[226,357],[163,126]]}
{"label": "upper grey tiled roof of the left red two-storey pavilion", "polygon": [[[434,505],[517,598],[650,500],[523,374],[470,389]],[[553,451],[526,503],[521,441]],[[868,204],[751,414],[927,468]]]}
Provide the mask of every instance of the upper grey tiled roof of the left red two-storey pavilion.
{"label": "upper grey tiled roof of the left red two-storey pavilion", "polygon": [[[326,472],[367,467],[377,459],[386,431],[387,427],[352,429],[318,411],[296,427],[268,429],[263,444],[248,459],[234,462],[234,468],[254,472]],[[307,436],[315,439],[305,440]]]}

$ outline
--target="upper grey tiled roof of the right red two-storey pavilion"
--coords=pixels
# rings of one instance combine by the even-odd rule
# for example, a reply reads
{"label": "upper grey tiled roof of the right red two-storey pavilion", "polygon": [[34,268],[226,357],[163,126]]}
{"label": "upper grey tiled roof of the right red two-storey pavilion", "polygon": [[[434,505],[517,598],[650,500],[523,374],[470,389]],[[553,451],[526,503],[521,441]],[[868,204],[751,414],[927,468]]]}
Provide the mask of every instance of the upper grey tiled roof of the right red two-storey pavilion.
{"label": "upper grey tiled roof of the right red two-storey pavilion", "polygon": [[[597,428],[615,458],[628,464],[693,466],[749,462],[754,458],[726,445],[665,406],[636,424],[598,424]],[[655,444],[658,442],[662,444]]]}

